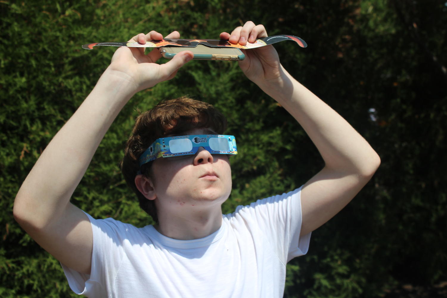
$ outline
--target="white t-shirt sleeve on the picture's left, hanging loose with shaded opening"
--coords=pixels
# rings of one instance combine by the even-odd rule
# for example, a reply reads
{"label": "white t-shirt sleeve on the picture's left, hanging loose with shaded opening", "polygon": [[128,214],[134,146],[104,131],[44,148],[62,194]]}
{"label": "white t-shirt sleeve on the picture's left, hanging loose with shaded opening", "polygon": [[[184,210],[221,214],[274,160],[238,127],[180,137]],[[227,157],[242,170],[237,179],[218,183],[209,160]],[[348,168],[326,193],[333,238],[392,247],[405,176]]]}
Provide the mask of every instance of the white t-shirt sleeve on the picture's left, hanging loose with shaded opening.
{"label": "white t-shirt sleeve on the picture's left, hanging loose with shaded opening", "polygon": [[[112,218],[94,219],[89,214],[87,216],[93,232],[90,274],[82,274],[64,264],[61,265],[73,292],[87,297],[105,297],[106,278],[113,278],[122,262],[122,239],[118,231],[126,227],[122,222]],[[105,272],[107,275],[104,274]]]}

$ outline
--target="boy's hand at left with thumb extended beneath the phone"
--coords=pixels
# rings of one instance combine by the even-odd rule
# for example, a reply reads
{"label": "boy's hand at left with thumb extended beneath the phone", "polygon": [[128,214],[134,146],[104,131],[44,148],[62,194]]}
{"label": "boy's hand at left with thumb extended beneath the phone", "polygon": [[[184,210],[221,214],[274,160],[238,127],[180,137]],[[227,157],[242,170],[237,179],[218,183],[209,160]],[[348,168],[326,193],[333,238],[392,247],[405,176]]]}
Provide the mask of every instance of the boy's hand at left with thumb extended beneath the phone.
{"label": "boy's hand at left with thumb extended beneath the phone", "polygon": [[[166,38],[180,38],[180,34],[174,31]],[[163,39],[163,36],[160,33],[151,31],[146,35],[143,33],[135,35],[129,41],[144,44],[149,40],[161,39]],[[118,48],[112,57],[110,66],[107,68],[110,75],[128,80],[131,83],[129,87],[134,92],[151,88],[160,82],[172,79],[177,70],[193,58],[191,51],[182,51],[167,63],[157,64],[155,62],[161,58],[159,49],[155,48],[147,55],[144,54],[144,49],[125,46]]]}

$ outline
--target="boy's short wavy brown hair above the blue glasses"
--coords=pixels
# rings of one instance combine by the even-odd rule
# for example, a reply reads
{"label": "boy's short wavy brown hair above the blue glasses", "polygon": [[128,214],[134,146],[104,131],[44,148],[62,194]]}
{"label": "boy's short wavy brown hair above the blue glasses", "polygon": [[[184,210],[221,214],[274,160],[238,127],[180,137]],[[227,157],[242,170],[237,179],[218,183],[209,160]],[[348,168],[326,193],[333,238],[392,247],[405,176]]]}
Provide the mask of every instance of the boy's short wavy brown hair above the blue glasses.
{"label": "boy's short wavy brown hair above the blue glasses", "polygon": [[162,101],[149,111],[141,113],[135,121],[120,168],[127,185],[136,193],[139,206],[155,222],[158,222],[158,217],[154,201],[144,197],[135,185],[137,172],[140,170],[143,175],[149,176],[151,163],[143,164],[140,169],[138,159],[156,139],[202,127],[223,134],[227,128],[227,120],[213,105],[189,97]]}

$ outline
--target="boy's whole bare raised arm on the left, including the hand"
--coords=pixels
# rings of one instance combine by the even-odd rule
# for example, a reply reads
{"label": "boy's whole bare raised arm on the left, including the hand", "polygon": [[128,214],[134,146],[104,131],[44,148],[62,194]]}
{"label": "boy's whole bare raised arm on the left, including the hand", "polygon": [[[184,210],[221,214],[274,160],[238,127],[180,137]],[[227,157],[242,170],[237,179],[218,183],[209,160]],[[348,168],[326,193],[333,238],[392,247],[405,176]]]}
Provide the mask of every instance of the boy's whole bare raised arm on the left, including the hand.
{"label": "boy's whole bare raised arm on the left, including the hand", "polygon": [[[179,38],[178,32],[168,38]],[[160,40],[155,31],[131,40]],[[175,76],[192,58],[182,52],[165,64],[156,64],[158,50],[116,50],[93,91],[42,152],[14,201],[14,217],[25,231],[59,261],[81,273],[90,273],[92,228],[87,216],[70,197],[97,150],[105,132],[129,99],[145,88]]]}

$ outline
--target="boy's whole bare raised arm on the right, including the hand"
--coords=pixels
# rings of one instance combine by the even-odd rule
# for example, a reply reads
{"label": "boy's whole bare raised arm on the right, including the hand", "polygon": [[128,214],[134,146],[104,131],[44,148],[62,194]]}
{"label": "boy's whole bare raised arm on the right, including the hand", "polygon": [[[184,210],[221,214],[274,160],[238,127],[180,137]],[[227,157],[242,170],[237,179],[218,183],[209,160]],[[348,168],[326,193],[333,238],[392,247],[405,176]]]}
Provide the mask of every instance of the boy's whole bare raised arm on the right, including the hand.
{"label": "boy's whole bare raised arm on the right, including the hand", "polygon": [[[220,38],[242,45],[266,36],[264,26],[251,21],[231,34],[220,34]],[[345,119],[284,69],[273,46],[245,51],[245,60],[239,65],[250,80],[291,113],[325,161],[325,167],[301,192],[301,235],[308,234],[349,203],[371,179],[380,158]]]}

